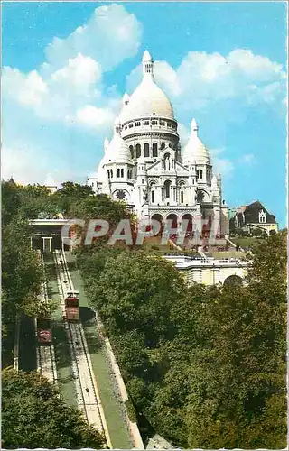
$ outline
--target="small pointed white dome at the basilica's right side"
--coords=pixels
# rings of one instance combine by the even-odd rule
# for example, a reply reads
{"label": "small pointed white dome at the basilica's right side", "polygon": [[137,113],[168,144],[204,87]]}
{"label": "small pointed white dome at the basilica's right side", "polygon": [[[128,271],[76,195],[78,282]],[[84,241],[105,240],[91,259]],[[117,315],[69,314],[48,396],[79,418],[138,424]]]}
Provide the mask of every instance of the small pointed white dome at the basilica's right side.
{"label": "small pointed white dome at the basilica's right side", "polygon": [[192,119],[191,136],[182,151],[182,160],[184,164],[210,164],[210,154],[205,144],[200,141],[198,128],[195,119]]}

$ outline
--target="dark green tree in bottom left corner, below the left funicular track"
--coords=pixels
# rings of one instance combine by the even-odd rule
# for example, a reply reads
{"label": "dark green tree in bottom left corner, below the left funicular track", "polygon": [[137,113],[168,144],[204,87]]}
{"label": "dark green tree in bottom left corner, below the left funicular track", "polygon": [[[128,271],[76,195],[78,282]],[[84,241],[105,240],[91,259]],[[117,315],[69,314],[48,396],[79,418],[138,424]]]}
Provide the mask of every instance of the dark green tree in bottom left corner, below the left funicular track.
{"label": "dark green tree in bottom left corner, below the left funicular track", "polygon": [[81,412],[68,407],[37,373],[2,373],[2,445],[5,448],[99,448],[104,438]]}

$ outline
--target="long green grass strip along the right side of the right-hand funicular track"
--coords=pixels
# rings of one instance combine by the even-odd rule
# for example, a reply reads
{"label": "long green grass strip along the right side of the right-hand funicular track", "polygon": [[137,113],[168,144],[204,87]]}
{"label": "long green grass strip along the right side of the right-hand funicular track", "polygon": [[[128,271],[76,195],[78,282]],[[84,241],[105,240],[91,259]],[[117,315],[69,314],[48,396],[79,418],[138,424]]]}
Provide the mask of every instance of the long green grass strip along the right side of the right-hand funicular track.
{"label": "long green grass strip along the right side of the right-hand funicular track", "polygon": [[66,258],[74,287],[79,290],[80,319],[87,338],[91,364],[98,383],[99,396],[107,419],[107,428],[112,446],[119,449],[131,449],[132,443],[126,428],[126,421],[124,420],[124,405],[118,397],[114,375],[107,363],[106,350],[98,336],[94,314],[89,308],[88,298],[84,291],[79,271],[74,266],[75,257],[71,253],[66,253]]}

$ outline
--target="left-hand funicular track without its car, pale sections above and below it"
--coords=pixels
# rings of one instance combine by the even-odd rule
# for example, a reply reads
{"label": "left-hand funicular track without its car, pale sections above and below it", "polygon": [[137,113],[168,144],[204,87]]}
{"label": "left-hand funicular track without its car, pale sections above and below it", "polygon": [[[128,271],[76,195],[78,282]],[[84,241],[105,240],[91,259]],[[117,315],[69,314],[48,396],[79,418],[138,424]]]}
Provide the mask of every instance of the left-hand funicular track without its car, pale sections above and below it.
{"label": "left-hand funicular track without its car, pale sections above and below it", "polygon": [[[44,268],[44,259],[41,252],[39,252],[39,258],[42,262],[42,267]],[[48,305],[48,292],[46,282],[42,285],[41,299],[44,305]],[[54,346],[51,345],[40,345],[37,346],[37,368],[44,377],[46,377],[52,383],[57,382],[57,371],[55,363]]]}

